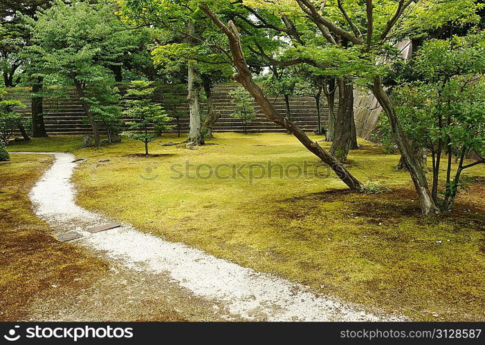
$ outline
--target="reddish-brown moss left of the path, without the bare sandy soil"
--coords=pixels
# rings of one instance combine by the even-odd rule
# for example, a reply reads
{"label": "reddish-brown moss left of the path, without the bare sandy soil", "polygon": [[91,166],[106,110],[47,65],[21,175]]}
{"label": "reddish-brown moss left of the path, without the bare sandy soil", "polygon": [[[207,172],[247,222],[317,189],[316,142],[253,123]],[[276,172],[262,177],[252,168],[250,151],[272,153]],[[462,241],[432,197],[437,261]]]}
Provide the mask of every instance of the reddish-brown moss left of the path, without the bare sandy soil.
{"label": "reddish-brown moss left of the path, without the bare sandy soil", "polygon": [[86,250],[55,240],[33,214],[28,191],[50,163],[46,156],[12,155],[11,162],[0,164],[1,321],[26,319],[35,297],[73,293],[107,270]]}

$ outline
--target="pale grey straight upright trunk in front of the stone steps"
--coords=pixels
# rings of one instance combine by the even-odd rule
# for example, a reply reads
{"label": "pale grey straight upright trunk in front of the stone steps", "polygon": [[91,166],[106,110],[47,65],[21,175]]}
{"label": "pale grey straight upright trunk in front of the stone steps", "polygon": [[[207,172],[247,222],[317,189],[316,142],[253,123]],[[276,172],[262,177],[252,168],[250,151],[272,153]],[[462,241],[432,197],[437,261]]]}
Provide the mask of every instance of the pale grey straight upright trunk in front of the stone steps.
{"label": "pale grey straight upright trunk in front of the stone steps", "polygon": [[200,86],[196,81],[196,68],[189,66],[187,89],[189,94],[190,123],[189,123],[189,142],[194,145],[201,144],[201,106],[199,99]]}

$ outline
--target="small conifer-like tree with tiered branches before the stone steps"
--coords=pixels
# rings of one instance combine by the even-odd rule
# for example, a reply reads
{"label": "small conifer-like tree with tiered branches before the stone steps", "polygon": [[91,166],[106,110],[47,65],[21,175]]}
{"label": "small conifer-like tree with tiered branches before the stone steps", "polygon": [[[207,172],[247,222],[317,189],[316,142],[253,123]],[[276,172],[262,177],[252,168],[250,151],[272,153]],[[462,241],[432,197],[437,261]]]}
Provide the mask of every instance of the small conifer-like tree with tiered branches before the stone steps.
{"label": "small conifer-like tree with tiered branches before the stone steps", "polygon": [[122,135],[133,140],[140,140],[145,143],[145,155],[148,156],[148,143],[158,138],[163,130],[170,129],[167,122],[171,121],[162,106],[154,102],[154,91],[152,82],[131,81],[130,88],[125,95],[125,106],[127,109],[123,114],[133,119],[126,121],[125,125],[129,130],[122,132]]}

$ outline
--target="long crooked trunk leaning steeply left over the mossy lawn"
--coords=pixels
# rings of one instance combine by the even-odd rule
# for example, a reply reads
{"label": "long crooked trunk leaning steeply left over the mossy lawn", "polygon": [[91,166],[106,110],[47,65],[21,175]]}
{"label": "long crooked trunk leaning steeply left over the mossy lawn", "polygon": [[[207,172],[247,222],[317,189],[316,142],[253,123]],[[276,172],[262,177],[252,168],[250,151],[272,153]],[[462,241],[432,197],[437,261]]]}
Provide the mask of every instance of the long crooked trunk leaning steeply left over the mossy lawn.
{"label": "long crooked trunk leaning steeply left over the mossy lawn", "polygon": [[235,79],[254,97],[255,101],[262,108],[264,116],[291,132],[291,134],[293,134],[310,152],[327,164],[351,190],[363,190],[363,185],[356,179],[356,177],[351,175],[345,166],[340,164],[335,157],[330,155],[329,152],[324,150],[317,142],[312,141],[300,128],[298,128],[298,126],[295,126],[292,121],[286,119],[277,112],[273,103],[269,101],[261,88],[259,88],[253,80],[253,76],[246,63],[246,58],[244,57],[239,32],[234,23],[229,21],[226,26],[207,6],[201,5],[199,7],[228,37],[230,50],[232,52],[232,62],[238,71],[237,75],[235,75]]}

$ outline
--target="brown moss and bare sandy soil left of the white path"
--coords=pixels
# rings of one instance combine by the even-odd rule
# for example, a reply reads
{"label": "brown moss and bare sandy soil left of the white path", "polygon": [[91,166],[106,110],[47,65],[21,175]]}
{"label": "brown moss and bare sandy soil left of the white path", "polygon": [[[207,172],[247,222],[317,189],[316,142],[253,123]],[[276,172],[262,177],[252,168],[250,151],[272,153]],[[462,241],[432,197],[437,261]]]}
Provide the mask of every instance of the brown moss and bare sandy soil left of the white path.
{"label": "brown moss and bare sandy soil left of the white path", "polygon": [[12,155],[0,162],[0,321],[183,320],[163,294],[143,296],[149,277],[114,274],[94,253],[57,241],[35,217],[28,192],[51,161]]}

